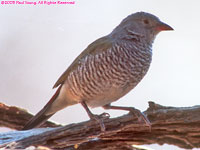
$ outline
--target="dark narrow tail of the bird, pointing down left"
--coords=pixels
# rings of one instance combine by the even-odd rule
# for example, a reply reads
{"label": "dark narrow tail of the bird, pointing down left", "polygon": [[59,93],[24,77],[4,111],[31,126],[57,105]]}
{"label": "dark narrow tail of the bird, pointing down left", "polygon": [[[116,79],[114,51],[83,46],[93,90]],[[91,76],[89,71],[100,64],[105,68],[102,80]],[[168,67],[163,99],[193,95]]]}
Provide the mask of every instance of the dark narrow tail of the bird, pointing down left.
{"label": "dark narrow tail of the bird, pointing down left", "polygon": [[60,93],[60,89],[62,86],[60,86],[56,93],[53,95],[53,97],[50,99],[50,101],[44,106],[44,108],[42,110],[40,110],[34,117],[32,117],[24,126],[24,128],[22,130],[28,130],[28,129],[32,129],[35,127],[39,127],[40,125],[42,125],[46,120],[48,120],[51,116],[53,116],[55,113],[53,114],[46,114],[46,112],[49,110],[49,108],[51,107],[52,103],[56,100],[56,98],[58,97],[59,93]]}

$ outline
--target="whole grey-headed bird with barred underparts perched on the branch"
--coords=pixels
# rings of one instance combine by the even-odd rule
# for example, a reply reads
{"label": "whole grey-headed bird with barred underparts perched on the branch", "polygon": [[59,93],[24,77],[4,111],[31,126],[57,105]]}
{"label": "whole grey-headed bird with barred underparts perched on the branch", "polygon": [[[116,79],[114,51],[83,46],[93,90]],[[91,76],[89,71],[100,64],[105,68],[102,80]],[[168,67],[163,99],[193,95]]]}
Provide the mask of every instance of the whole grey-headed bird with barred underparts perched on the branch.
{"label": "whole grey-headed bird with barred underparts perched on the branch", "polygon": [[[143,79],[152,61],[152,44],[161,31],[173,30],[157,16],[136,12],[123,19],[114,30],[89,44],[60,76],[49,102],[32,117],[22,130],[40,127],[57,111],[81,104],[91,120],[105,125],[108,113],[93,114],[90,108],[103,107],[129,111],[145,125],[149,119],[134,107],[113,106]],[[137,102],[137,101],[136,101]]]}

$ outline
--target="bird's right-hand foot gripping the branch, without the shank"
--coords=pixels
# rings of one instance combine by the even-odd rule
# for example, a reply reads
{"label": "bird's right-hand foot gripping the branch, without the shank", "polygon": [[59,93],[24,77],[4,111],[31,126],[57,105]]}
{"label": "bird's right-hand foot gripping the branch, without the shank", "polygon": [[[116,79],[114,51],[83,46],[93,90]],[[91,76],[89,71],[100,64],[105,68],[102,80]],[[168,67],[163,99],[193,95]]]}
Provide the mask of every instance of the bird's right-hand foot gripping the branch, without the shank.
{"label": "bird's right-hand foot gripping the branch, without the shank", "polygon": [[146,115],[141,112],[140,110],[136,109],[136,108],[130,108],[130,113],[134,114],[137,118],[139,122],[145,122],[145,125],[149,127],[149,130],[151,131],[151,122],[149,121],[149,119],[146,117]]}

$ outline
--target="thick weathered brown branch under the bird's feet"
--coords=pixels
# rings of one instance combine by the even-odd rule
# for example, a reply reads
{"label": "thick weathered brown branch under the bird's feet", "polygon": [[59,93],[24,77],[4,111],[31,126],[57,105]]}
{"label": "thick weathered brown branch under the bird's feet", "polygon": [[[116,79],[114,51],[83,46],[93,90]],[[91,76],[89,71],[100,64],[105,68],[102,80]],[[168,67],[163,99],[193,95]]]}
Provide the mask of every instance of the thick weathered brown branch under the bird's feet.
{"label": "thick weathered brown branch under the bird's feet", "polygon": [[[42,145],[48,148],[66,150],[131,150],[134,149],[131,146],[133,144],[154,143],[173,144],[185,149],[200,147],[200,106],[164,107],[149,102],[149,108],[144,113],[152,123],[151,131],[149,127],[139,123],[135,116],[127,114],[105,119],[105,132],[101,132],[97,122],[86,121],[64,127],[39,128],[0,134],[0,141],[2,141],[0,147],[26,148],[31,145]],[[16,113],[16,119],[17,115],[21,114]],[[22,115],[24,114],[22,113]],[[9,116],[7,117],[9,118]],[[9,124],[11,123],[13,122]],[[23,121],[17,129],[20,129],[22,124]]]}

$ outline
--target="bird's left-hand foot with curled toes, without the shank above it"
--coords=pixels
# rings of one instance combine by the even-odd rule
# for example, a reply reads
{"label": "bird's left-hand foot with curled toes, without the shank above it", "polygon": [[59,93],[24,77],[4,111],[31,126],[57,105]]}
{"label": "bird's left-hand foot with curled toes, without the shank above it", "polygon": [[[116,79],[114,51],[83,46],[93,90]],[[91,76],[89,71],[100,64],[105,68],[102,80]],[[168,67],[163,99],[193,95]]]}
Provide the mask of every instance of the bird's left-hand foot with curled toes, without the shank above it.
{"label": "bird's left-hand foot with curled toes, without the shank above it", "polygon": [[100,115],[92,115],[90,118],[91,118],[91,120],[95,120],[99,123],[102,132],[106,131],[106,127],[104,125],[103,120],[110,118],[110,114],[102,113]]}

